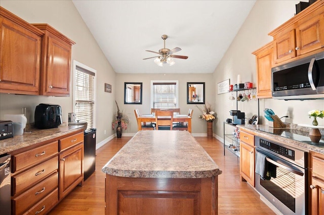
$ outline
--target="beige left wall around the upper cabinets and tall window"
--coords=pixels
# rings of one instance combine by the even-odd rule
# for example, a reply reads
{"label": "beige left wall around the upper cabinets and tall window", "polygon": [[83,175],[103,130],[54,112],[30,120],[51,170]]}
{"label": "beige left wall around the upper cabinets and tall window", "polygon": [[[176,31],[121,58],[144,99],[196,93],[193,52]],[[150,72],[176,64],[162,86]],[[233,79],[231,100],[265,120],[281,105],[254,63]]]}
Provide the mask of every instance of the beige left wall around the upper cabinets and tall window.
{"label": "beige left wall around the upper cabinets and tall window", "polygon": [[[72,46],[72,62],[76,60],[97,70],[97,143],[115,132],[111,130],[114,109],[114,93],[104,92],[104,83],[115,87],[115,72],[103,55],[88,27],[71,1],[0,1],[0,6],[29,23],[48,23],[62,34],[76,42]],[[48,97],[0,93],[0,119],[4,114],[21,114],[27,108],[27,123],[34,122],[34,110],[39,103],[59,104],[63,121],[67,122],[72,112],[72,81],[69,97]],[[106,134],[104,134],[106,130]]]}

